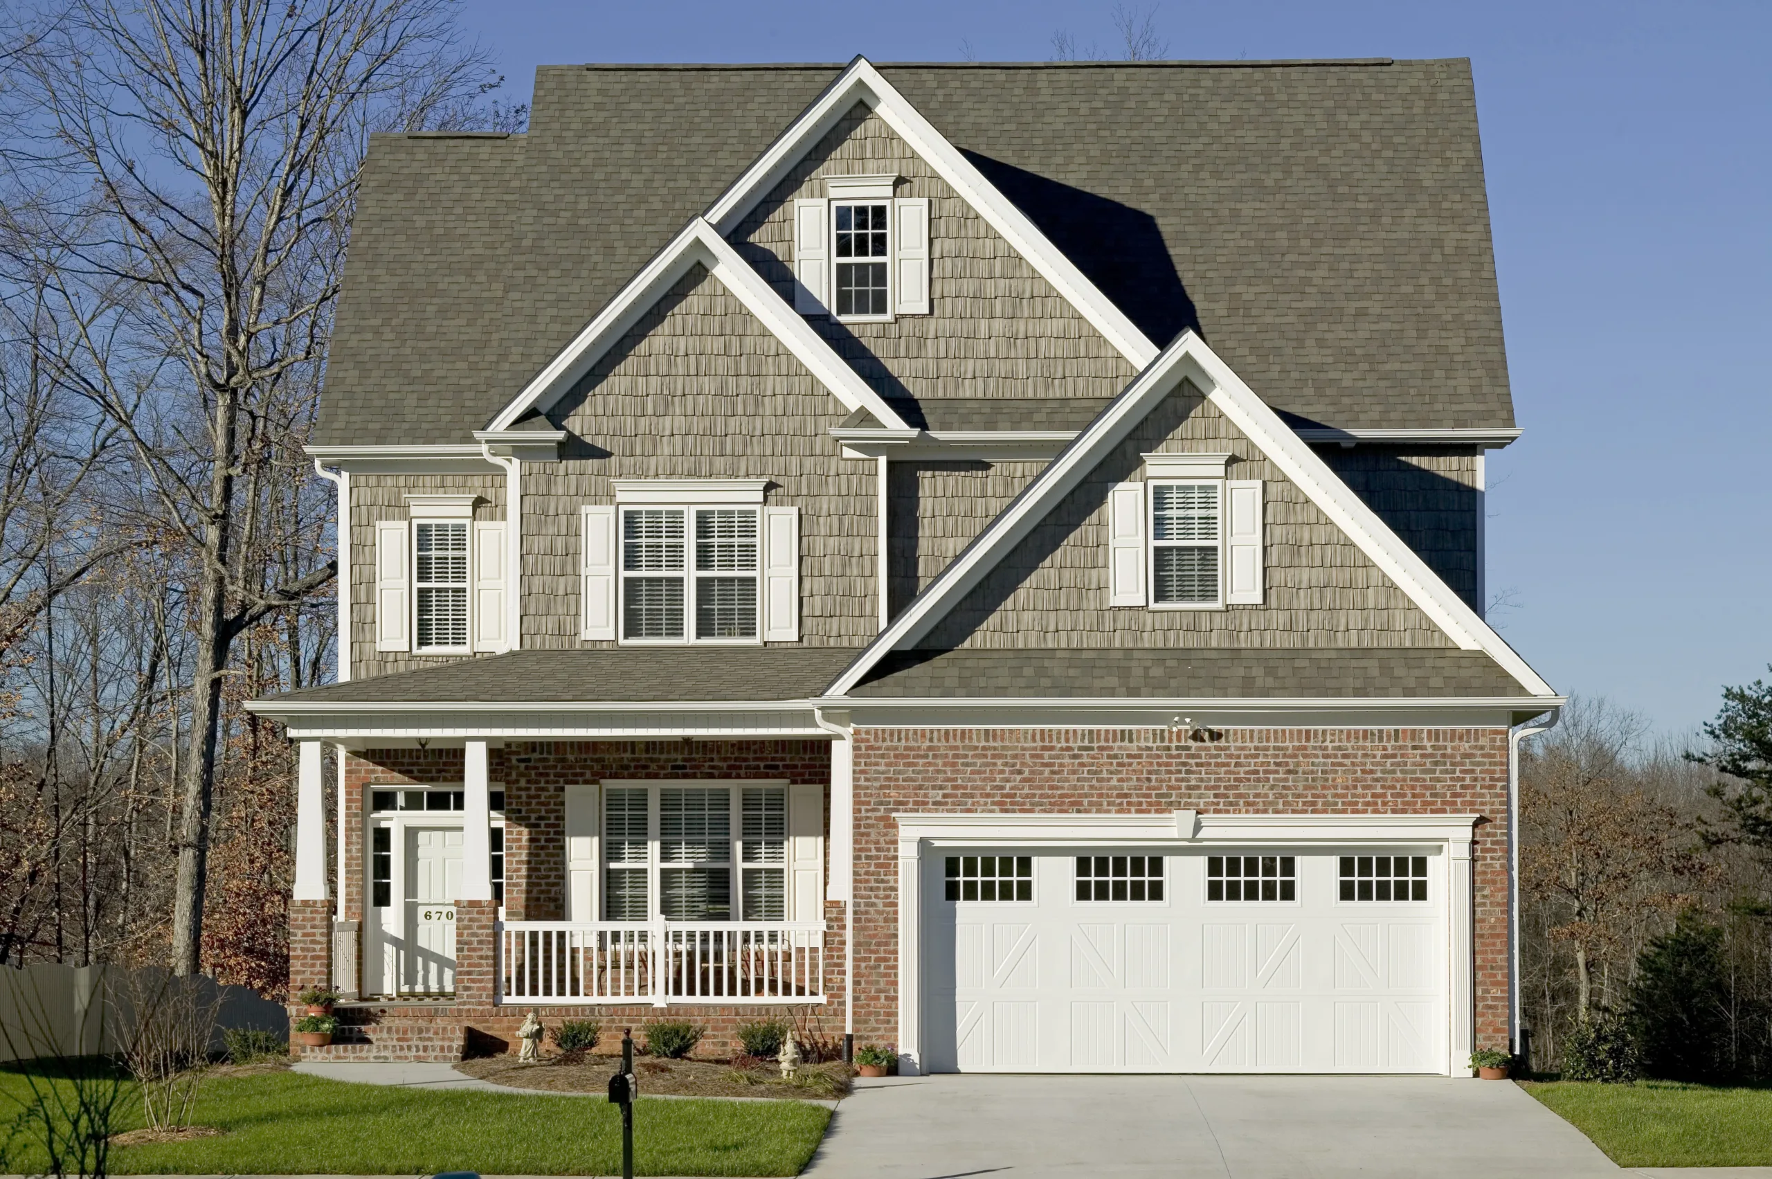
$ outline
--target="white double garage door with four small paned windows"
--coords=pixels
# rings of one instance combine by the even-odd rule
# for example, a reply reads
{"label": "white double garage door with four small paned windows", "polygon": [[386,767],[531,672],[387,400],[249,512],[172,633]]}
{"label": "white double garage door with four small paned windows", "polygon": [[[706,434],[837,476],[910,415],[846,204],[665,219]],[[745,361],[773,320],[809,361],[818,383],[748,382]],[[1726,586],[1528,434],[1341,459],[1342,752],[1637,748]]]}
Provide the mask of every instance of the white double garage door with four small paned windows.
{"label": "white double garage door with four small paned windows", "polygon": [[1430,847],[925,849],[936,1073],[1444,1073]]}

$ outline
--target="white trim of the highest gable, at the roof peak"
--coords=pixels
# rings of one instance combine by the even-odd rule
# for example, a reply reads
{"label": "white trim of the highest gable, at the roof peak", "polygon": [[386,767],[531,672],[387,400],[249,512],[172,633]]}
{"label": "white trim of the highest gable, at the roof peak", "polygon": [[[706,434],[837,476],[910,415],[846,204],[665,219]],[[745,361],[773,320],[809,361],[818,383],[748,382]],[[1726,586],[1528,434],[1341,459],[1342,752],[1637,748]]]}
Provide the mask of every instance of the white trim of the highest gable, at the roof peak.
{"label": "white trim of the highest gable, at the roof peak", "polygon": [[1090,282],[1077,264],[1065,257],[1026,213],[998,191],[996,184],[971,165],[929,119],[911,105],[865,57],[856,57],[826,87],[812,106],[801,112],[787,131],[741,176],[712,206],[707,220],[721,236],[757,207],[781,177],[813,144],[836,126],[856,103],[867,103],[936,176],[948,183],[1005,241],[1045,278],[1106,340],[1134,367],[1143,369],[1157,356],[1157,346],[1115,307],[1113,300]]}

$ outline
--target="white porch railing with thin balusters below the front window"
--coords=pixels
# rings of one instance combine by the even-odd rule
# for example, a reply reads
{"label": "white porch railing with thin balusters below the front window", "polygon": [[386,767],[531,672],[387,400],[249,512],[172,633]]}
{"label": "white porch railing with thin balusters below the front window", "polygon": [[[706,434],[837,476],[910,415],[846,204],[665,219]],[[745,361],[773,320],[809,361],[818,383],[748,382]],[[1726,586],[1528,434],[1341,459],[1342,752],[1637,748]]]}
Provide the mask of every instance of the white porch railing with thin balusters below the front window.
{"label": "white porch railing with thin balusters below the front window", "polygon": [[500,922],[501,1003],[822,1003],[824,922]]}

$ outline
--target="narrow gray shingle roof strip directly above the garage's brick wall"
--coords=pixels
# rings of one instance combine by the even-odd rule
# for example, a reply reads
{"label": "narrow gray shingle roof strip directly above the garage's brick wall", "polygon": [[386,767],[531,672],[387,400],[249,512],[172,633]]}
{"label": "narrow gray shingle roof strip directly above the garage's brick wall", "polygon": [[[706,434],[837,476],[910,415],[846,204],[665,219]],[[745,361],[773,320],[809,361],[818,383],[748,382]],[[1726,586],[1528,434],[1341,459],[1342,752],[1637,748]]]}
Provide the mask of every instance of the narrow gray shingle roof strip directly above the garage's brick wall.
{"label": "narrow gray shingle roof strip directly above the garage's brick wall", "polygon": [[1524,697],[1481,651],[898,651],[854,697]]}

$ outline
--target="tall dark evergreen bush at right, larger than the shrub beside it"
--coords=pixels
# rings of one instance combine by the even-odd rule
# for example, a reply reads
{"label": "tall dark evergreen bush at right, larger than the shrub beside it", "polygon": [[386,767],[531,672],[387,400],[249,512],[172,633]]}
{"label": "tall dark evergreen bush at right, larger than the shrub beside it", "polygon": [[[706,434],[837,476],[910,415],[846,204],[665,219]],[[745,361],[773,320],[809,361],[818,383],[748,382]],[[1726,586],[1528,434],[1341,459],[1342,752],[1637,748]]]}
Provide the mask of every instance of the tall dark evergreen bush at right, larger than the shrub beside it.
{"label": "tall dark evergreen bush at right, larger than the shrub beside it", "polygon": [[1648,943],[1630,982],[1628,1021],[1643,1073],[1669,1081],[1729,1078],[1729,1007],[1722,929],[1687,911]]}

